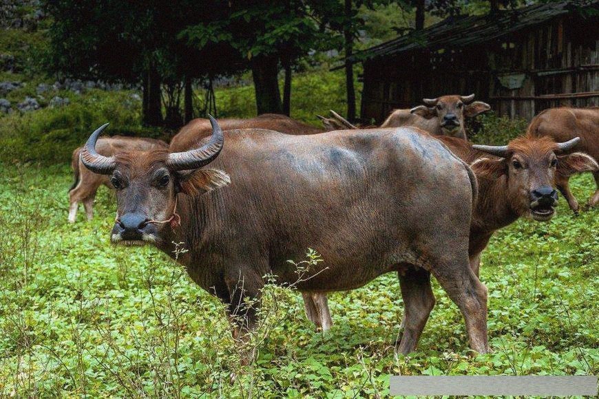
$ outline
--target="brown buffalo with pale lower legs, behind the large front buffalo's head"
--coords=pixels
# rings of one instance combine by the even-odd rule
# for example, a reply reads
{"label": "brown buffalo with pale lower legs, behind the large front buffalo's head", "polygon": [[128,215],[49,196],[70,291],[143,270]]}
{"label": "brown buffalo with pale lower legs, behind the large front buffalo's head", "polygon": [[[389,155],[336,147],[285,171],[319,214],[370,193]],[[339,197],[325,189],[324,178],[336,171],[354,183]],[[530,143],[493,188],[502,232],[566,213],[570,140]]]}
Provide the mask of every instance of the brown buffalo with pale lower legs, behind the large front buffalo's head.
{"label": "brown buffalo with pale lower legs, behind the large front buffalo's head", "polygon": [[[150,149],[166,149],[169,144],[162,140],[153,138],[134,138],[124,136],[102,137],[96,143],[96,151],[104,156],[111,156],[125,149],[135,149],[139,151],[148,151]],[[77,217],[79,202],[83,202],[87,220],[94,216],[94,198],[98,187],[104,184],[108,188],[113,188],[110,180],[105,175],[98,175],[85,168],[79,159],[83,147],[73,151],[71,158],[71,167],[73,169],[74,182],[69,189],[69,222],[74,223]]]}

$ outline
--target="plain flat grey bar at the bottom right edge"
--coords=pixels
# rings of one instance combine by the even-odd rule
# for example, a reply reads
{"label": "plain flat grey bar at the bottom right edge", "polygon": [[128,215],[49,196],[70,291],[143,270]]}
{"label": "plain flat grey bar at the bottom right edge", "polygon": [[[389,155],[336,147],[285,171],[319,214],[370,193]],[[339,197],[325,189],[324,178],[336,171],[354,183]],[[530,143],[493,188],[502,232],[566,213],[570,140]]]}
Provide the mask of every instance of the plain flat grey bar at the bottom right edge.
{"label": "plain flat grey bar at the bottom right edge", "polygon": [[597,395],[596,376],[391,376],[391,395]]}

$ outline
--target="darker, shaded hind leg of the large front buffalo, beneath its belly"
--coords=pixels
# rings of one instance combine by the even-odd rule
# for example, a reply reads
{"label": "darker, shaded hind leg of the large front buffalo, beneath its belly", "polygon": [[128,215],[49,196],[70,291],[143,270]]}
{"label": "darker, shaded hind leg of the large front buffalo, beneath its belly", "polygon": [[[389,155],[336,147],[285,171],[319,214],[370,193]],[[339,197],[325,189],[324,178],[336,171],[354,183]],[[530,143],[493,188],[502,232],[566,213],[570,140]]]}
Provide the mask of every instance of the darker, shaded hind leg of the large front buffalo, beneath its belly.
{"label": "darker, shaded hind leg of the large front buffalo, beneath its belly", "polygon": [[418,340],[434,307],[434,294],[430,288],[430,273],[422,268],[410,267],[405,273],[398,272],[401,296],[403,296],[403,336],[399,352],[408,354],[418,345]]}

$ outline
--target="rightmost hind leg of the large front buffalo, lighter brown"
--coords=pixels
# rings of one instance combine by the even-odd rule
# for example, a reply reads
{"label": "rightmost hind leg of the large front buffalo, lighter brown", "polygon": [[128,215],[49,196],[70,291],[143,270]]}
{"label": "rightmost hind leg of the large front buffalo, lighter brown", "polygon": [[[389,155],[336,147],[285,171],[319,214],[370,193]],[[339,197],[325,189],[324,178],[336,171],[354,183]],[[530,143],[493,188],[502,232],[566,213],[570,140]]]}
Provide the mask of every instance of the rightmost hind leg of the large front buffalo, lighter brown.
{"label": "rightmost hind leg of the large front buffalo, lighter brown", "polygon": [[487,353],[487,287],[476,277],[466,260],[434,268],[432,274],[460,308],[470,347],[481,354]]}

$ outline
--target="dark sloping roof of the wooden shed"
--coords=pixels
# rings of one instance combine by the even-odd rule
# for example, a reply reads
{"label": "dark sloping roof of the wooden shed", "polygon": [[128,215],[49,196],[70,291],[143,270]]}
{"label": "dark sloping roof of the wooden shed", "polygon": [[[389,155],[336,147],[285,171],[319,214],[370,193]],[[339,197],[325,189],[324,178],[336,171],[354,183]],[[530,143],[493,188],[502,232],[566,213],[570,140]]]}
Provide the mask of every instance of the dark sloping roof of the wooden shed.
{"label": "dark sloping roof of the wooden shed", "polygon": [[438,50],[484,43],[549,21],[559,15],[568,14],[576,8],[598,8],[598,6],[599,0],[551,1],[516,10],[501,10],[495,14],[483,16],[450,17],[424,30],[412,32],[357,52],[349,59],[357,63],[378,56],[399,54],[418,48]]}

